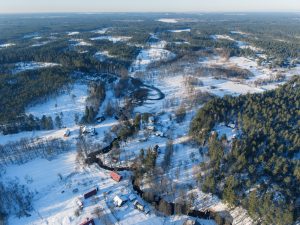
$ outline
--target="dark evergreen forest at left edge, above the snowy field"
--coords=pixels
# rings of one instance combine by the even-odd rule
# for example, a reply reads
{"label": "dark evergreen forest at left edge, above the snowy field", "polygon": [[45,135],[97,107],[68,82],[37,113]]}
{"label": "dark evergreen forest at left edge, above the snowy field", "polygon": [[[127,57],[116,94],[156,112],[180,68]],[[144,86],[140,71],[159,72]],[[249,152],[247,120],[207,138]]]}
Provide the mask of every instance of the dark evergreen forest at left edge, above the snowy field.
{"label": "dark evergreen forest at left edge, above the snowy field", "polygon": [[68,71],[62,68],[1,75],[0,123],[21,123],[18,117],[24,114],[27,106],[60,94],[71,82]]}

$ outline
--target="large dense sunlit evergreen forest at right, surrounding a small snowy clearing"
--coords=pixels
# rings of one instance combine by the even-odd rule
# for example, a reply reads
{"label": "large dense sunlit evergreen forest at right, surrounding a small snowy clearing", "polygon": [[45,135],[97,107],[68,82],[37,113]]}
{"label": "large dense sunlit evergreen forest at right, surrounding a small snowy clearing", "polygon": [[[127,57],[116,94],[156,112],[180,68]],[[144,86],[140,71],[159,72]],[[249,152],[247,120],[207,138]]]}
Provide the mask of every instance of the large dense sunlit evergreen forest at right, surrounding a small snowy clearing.
{"label": "large dense sunlit evergreen forest at right, surrounding a small snowy clearing", "polygon": [[[262,94],[215,98],[199,110],[190,133],[208,141],[210,161],[201,186],[230,205],[243,205],[263,224],[292,224],[299,217],[300,78]],[[211,135],[217,123],[237,124],[231,150]]]}

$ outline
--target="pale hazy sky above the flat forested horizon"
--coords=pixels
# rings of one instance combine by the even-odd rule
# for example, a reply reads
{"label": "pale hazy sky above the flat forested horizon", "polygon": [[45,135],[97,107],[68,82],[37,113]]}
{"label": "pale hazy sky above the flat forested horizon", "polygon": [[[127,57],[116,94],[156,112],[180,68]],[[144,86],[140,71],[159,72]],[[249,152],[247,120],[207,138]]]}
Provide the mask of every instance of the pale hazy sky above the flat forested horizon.
{"label": "pale hazy sky above the flat forested horizon", "polygon": [[0,0],[0,13],[300,12],[300,0]]}

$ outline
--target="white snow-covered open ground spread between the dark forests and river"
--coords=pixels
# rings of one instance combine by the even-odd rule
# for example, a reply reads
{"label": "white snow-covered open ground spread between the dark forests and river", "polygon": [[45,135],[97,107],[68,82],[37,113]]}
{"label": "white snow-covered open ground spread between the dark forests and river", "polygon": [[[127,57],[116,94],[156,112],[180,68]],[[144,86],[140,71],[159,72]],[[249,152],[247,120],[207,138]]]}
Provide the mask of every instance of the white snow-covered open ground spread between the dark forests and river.
{"label": "white snow-covered open ground spread between the dark forests and river", "polygon": [[[160,19],[160,22],[175,23],[176,19]],[[106,33],[107,29],[94,31],[98,34]],[[174,30],[174,32],[188,32],[187,30]],[[78,32],[71,32],[68,35],[76,35]],[[153,37],[156,38],[154,35]],[[215,38],[229,39],[228,36],[216,36]],[[91,40],[108,39],[112,42],[127,41],[130,37],[112,37],[100,36],[91,38]],[[232,39],[234,40],[234,39]],[[76,39],[76,43],[83,40]],[[165,49],[166,42],[158,40],[157,42],[148,43],[148,46],[141,50],[137,59],[132,64],[130,75],[135,76],[136,72],[147,72],[147,67],[151,63],[159,60],[169,60],[175,57],[174,53]],[[242,46],[242,43],[240,43]],[[1,45],[0,45],[1,47]],[[110,57],[108,52],[99,52],[99,54]],[[97,56],[97,55],[96,55]],[[200,66],[216,66],[224,65],[238,66],[239,68],[250,70],[254,76],[246,80],[229,80],[216,79],[214,77],[200,77],[203,82],[202,86],[196,87],[196,90],[208,91],[218,96],[240,95],[246,93],[262,92],[266,89],[276,88],[280,83],[255,86],[254,81],[257,79],[268,78],[274,71],[263,66],[258,66],[253,59],[243,57],[233,57],[228,61],[216,56],[207,58],[204,61],[199,60]],[[44,64],[41,64],[44,65]],[[21,64],[21,68],[36,69],[41,66],[39,63]],[[300,74],[300,66],[291,70],[282,70],[289,78],[293,74]],[[174,120],[174,113],[181,103],[189,98],[190,92],[185,85],[185,76],[191,75],[187,73],[170,73],[165,75],[160,70],[151,71],[151,74],[144,78],[144,82],[153,85],[165,94],[162,100],[147,100],[145,104],[135,109],[135,112],[148,112],[155,114],[156,122],[154,124],[158,132],[162,132],[165,136],[171,137],[174,143],[174,153],[170,163],[170,169],[167,175],[172,178],[174,183],[181,188],[187,190],[187,186],[193,187],[190,192],[194,192],[197,196],[194,202],[196,209],[213,209],[216,211],[229,210],[229,207],[221,202],[216,196],[205,194],[197,188],[195,184],[194,174],[198,171],[198,165],[202,161],[206,161],[205,155],[200,154],[199,149],[189,144],[189,123],[195,115],[196,110],[200,106],[191,107],[187,110],[184,121],[177,123]],[[151,90],[150,97],[158,97],[155,90]],[[180,224],[186,217],[159,217],[155,215],[155,211],[151,209],[150,215],[133,208],[131,202],[126,203],[121,208],[112,206],[112,199],[115,195],[124,195],[132,193],[132,187],[129,181],[129,173],[122,173],[124,180],[120,183],[112,181],[107,171],[97,166],[84,167],[76,162],[75,138],[79,133],[79,126],[75,124],[75,114],[79,118],[84,113],[87,98],[87,86],[85,84],[75,84],[69,92],[65,92],[55,98],[50,98],[41,104],[26,109],[27,114],[33,114],[37,117],[43,115],[51,116],[53,119],[56,115],[62,115],[63,126],[66,128],[55,129],[53,131],[36,131],[21,132],[19,134],[0,135],[0,144],[18,141],[21,138],[62,138],[66,129],[70,129],[71,136],[68,140],[72,141],[72,149],[70,152],[57,156],[56,159],[47,161],[45,159],[35,159],[23,165],[12,165],[5,168],[3,179],[18,177],[21,183],[26,184],[31,191],[36,192],[34,199],[34,211],[30,217],[10,217],[9,224],[80,224],[86,217],[96,217],[92,214],[97,206],[101,206],[106,214],[106,219],[112,224]],[[107,97],[100,107],[99,115],[109,101],[114,100],[113,92],[109,90]],[[171,118],[171,119],[170,119]],[[94,127],[98,133],[97,136],[89,137],[89,141],[93,143],[103,144],[104,135],[118,121],[107,118],[101,124],[95,124]],[[121,156],[118,165],[128,165],[130,160],[134,159],[141,148],[147,149],[159,145],[161,151],[157,160],[158,164],[163,162],[163,156],[166,150],[166,137],[156,135],[157,131],[146,131],[147,124],[144,124],[139,134],[129,140],[127,143],[121,143]],[[148,124],[149,125],[149,124]],[[215,130],[221,136],[226,134],[230,141],[236,134],[232,128],[219,124]],[[140,141],[147,136],[147,140]],[[110,163],[107,157],[103,157],[105,162]],[[41,169],[42,168],[42,169]],[[179,172],[178,172],[179,171]],[[178,174],[179,173],[179,174]],[[60,174],[60,175],[58,175]],[[62,178],[60,178],[62,177]],[[84,201],[84,209],[79,216],[75,216],[75,210],[78,208],[76,200],[83,193],[94,187],[99,188],[99,192],[95,198]],[[78,191],[74,191],[78,189]],[[106,198],[104,198],[104,193]],[[168,200],[175,200],[178,196],[165,196]],[[141,199],[139,201],[143,202]],[[144,203],[146,204],[146,203]],[[251,219],[247,216],[242,208],[229,210],[234,218],[234,224],[252,224]],[[202,220],[202,224],[213,225],[214,222]],[[101,224],[96,220],[96,224]]]}

